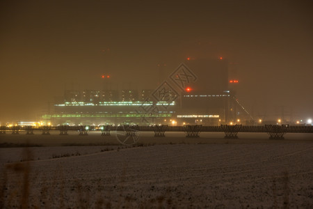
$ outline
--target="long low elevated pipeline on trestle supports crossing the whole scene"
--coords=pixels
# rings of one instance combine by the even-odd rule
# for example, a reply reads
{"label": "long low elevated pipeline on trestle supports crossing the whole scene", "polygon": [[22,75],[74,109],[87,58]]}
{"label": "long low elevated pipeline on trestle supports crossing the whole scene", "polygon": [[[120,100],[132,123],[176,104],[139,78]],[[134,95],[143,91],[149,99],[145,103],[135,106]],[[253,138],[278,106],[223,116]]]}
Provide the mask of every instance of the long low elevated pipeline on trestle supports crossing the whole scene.
{"label": "long low elevated pipeline on trestle supports crossing the whole scene", "polygon": [[[88,129],[86,129],[88,127]],[[122,130],[120,130],[122,129]],[[286,133],[313,133],[313,126],[305,125],[264,125],[264,126],[243,126],[243,125],[220,125],[220,126],[202,126],[202,125],[184,125],[184,126],[168,126],[168,125],[153,125],[153,126],[119,126],[112,125],[95,126],[42,126],[42,127],[0,127],[0,134],[6,134],[7,131],[12,131],[12,134],[19,134],[20,131],[26,131],[26,134],[34,134],[35,130],[41,130],[42,134],[50,134],[50,131],[60,131],[61,135],[67,135],[68,130],[79,131],[80,135],[88,135],[89,131],[101,130],[102,136],[110,136],[111,131],[123,132],[125,136],[131,136],[138,132],[147,131],[154,132],[154,137],[165,137],[165,132],[186,132],[186,137],[200,137],[200,132],[224,132],[226,139],[238,138],[239,132],[265,132],[269,135],[269,139],[284,139]],[[137,137],[137,136],[136,136]]]}

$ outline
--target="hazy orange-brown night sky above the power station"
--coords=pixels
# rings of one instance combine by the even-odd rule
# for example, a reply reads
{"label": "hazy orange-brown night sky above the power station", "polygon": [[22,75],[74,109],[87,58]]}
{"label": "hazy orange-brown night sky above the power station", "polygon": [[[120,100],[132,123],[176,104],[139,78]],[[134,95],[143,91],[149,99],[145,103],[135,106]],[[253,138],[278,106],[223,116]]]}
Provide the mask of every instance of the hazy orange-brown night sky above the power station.
{"label": "hazy orange-brown night sky above the power station", "polygon": [[0,3],[0,121],[32,119],[65,86],[100,75],[149,88],[157,64],[230,61],[253,114],[313,117],[312,1],[12,1]]}

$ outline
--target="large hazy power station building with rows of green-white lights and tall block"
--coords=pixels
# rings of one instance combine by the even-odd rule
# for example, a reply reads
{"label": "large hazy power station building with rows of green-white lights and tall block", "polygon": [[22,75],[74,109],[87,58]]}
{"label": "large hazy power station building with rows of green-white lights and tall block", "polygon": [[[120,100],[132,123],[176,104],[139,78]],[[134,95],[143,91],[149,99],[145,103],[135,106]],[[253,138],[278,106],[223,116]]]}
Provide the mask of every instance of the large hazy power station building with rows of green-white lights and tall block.
{"label": "large hazy power station building with rows of green-white lights and tall block", "polygon": [[239,120],[239,103],[230,91],[238,81],[228,76],[227,61],[189,59],[168,74],[155,89],[66,90],[64,102],[42,118],[54,125],[220,125]]}

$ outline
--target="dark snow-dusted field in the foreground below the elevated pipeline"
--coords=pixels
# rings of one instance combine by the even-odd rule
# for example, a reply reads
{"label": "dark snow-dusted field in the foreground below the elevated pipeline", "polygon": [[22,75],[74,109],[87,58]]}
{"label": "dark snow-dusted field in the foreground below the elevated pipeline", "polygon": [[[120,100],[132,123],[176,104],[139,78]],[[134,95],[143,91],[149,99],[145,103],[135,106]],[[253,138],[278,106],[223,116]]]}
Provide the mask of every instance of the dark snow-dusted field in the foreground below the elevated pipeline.
{"label": "dark snow-dusted field in the foreground below the elevated pipeline", "polygon": [[[286,140],[219,134],[143,135],[140,146],[129,147],[113,137],[105,143],[28,137],[30,144],[46,146],[0,148],[2,207],[313,208],[312,134]],[[1,144],[25,143],[6,135]],[[27,156],[32,161],[20,162]]]}

